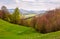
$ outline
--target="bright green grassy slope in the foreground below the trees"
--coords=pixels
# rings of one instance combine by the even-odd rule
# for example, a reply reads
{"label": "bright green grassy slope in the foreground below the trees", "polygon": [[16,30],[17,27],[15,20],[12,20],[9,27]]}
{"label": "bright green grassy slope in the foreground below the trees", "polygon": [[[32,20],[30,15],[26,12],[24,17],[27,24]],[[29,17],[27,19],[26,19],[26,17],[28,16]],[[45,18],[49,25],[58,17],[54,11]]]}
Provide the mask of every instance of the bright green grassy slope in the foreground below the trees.
{"label": "bright green grassy slope in the foreground below the trees", "polygon": [[41,34],[32,28],[11,24],[0,19],[0,39],[60,39],[60,31]]}

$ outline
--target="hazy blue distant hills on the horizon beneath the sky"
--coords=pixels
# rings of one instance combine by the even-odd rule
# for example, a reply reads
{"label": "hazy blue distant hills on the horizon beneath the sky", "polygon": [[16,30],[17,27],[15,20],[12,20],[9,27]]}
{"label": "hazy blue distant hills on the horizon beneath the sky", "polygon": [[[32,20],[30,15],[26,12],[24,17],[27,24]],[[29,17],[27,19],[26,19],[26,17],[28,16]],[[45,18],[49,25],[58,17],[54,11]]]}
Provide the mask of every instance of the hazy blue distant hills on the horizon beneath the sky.
{"label": "hazy blue distant hills on the horizon beneath the sky", "polygon": [[[14,9],[8,9],[10,13],[14,12]],[[44,13],[45,10],[40,10],[40,11],[33,11],[33,10],[24,10],[24,9],[20,9],[20,12],[24,15],[27,15],[27,14],[41,14],[41,13]]]}

